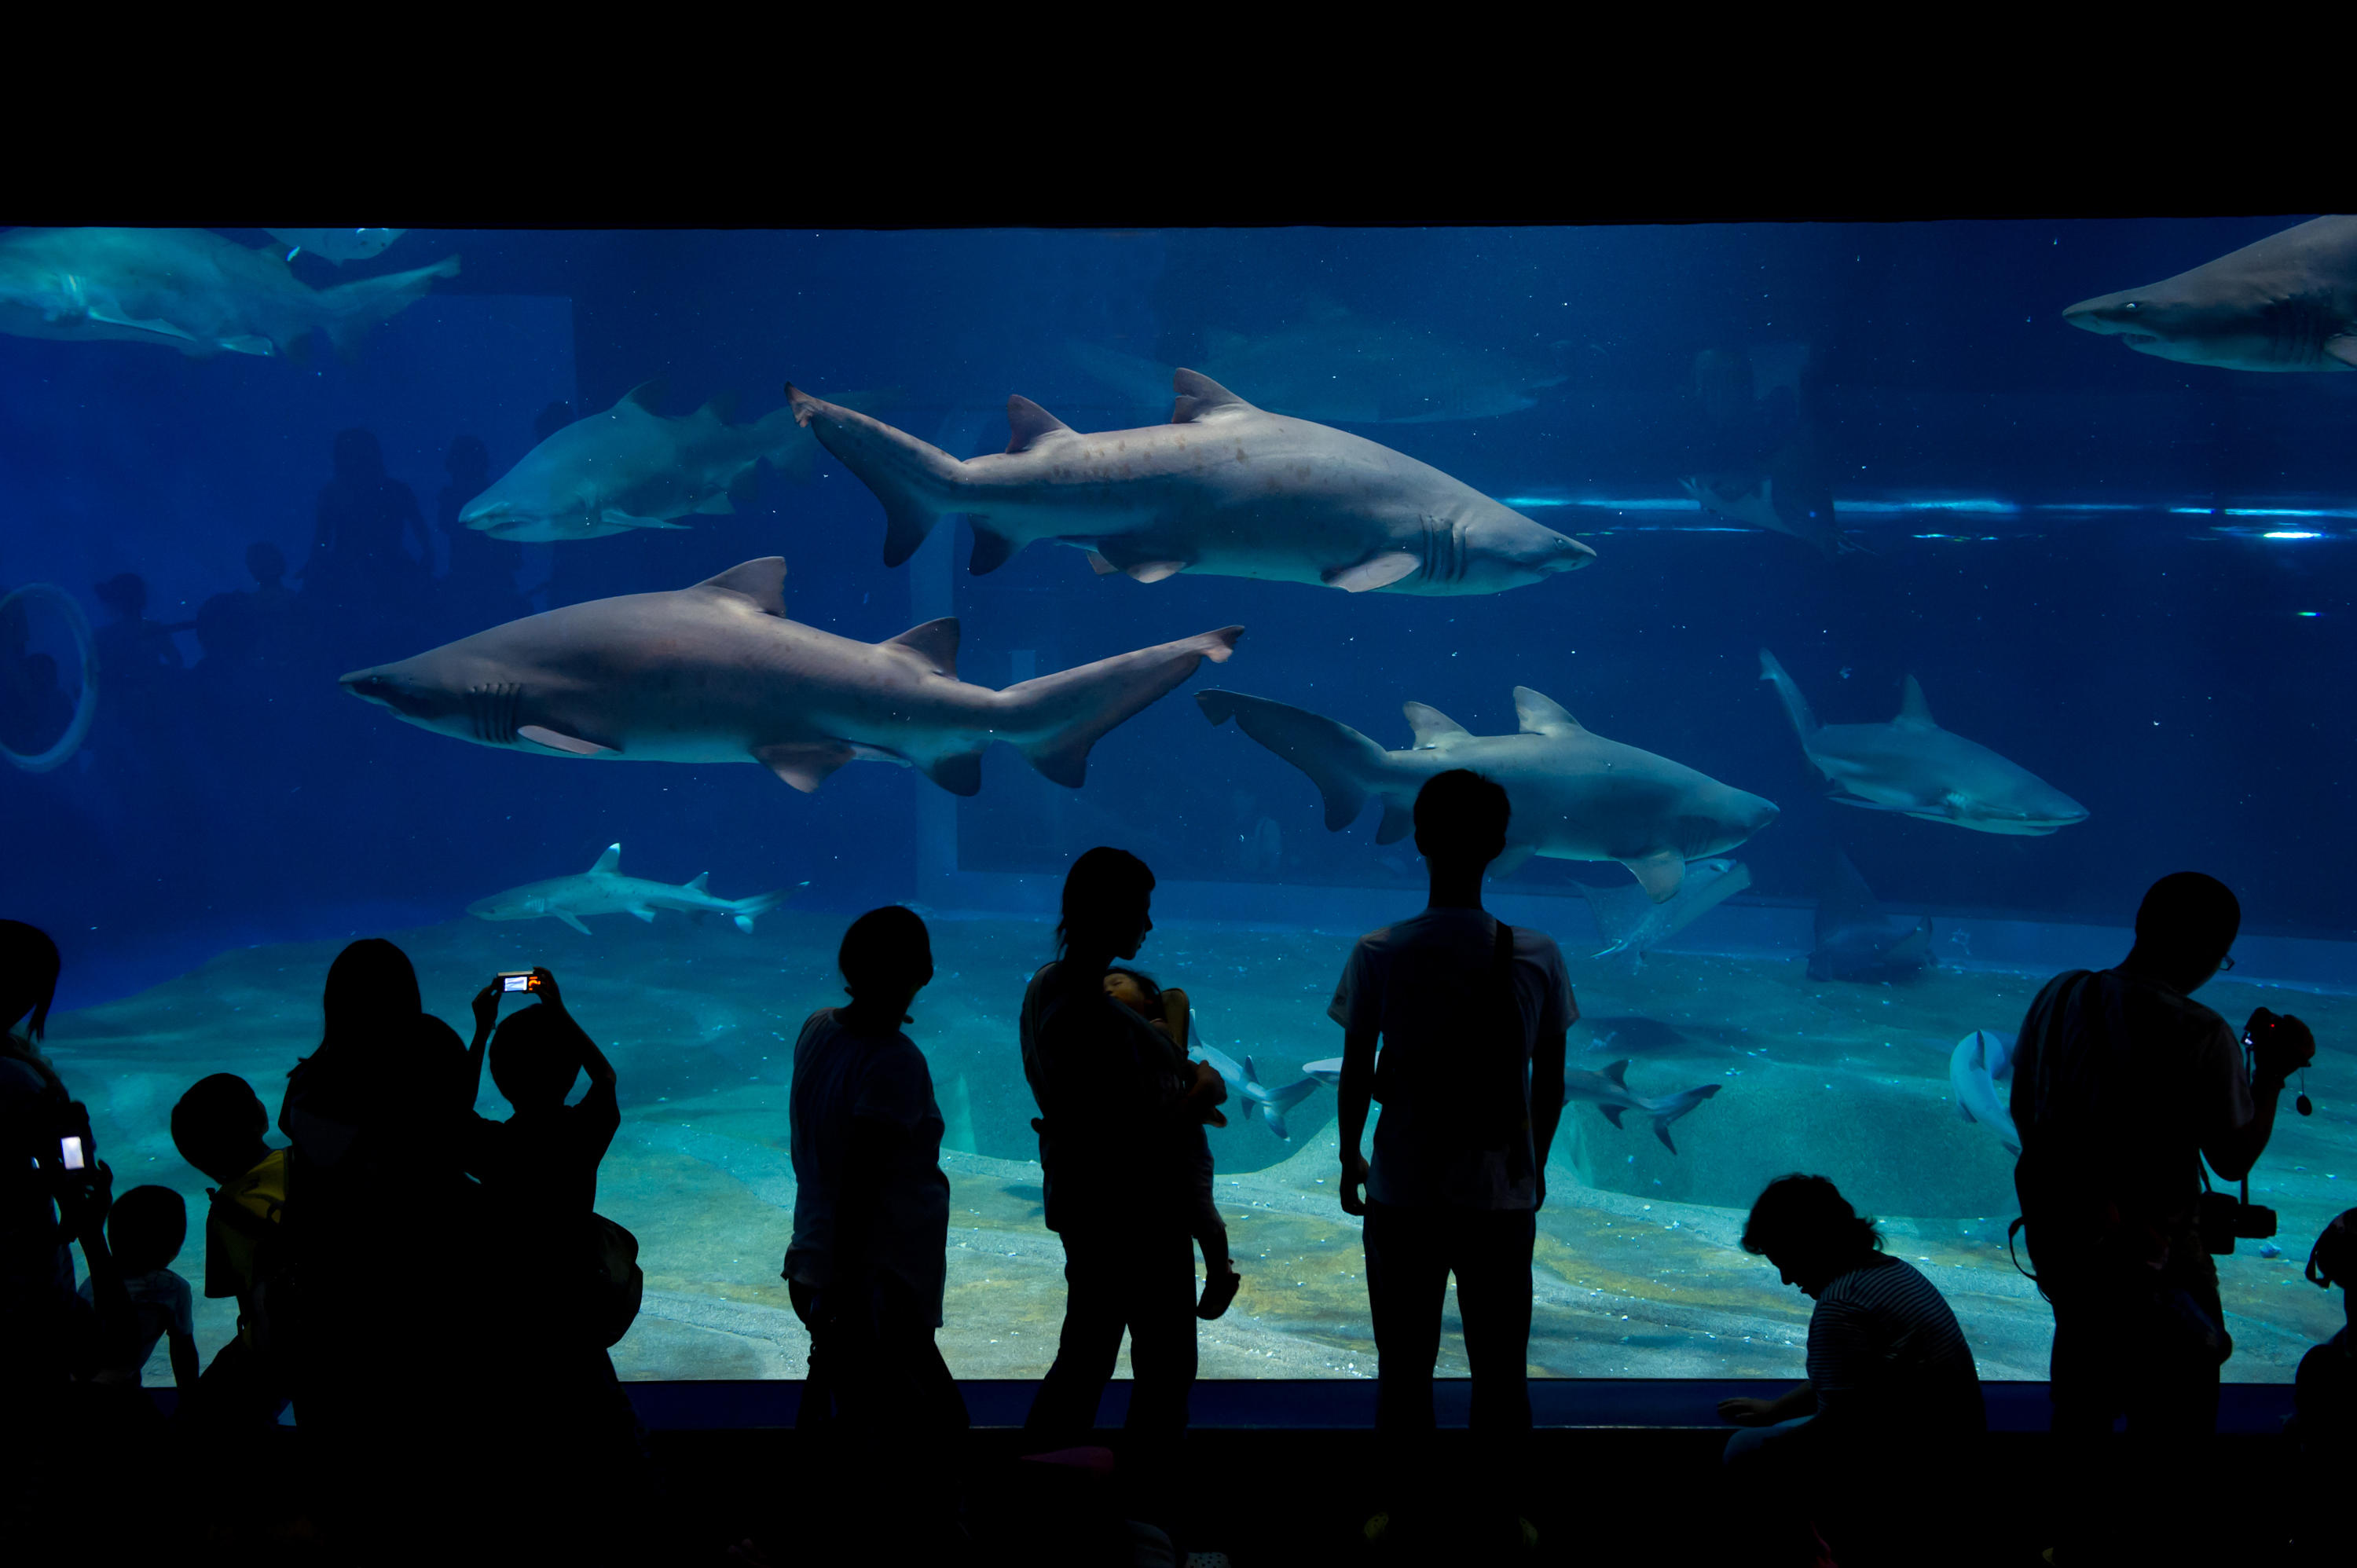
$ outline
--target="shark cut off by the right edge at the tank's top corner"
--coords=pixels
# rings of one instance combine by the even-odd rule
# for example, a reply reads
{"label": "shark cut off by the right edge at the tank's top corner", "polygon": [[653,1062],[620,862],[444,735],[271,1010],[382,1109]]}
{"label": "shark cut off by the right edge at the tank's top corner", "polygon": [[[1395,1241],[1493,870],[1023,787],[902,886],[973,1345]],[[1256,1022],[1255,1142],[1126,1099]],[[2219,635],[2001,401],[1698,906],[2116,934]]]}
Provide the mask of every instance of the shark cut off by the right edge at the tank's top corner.
{"label": "shark cut off by the right edge at the tank's top corner", "polygon": [[2185,365],[2357,370],[2357,217],[2312,217],[2062,321]]}

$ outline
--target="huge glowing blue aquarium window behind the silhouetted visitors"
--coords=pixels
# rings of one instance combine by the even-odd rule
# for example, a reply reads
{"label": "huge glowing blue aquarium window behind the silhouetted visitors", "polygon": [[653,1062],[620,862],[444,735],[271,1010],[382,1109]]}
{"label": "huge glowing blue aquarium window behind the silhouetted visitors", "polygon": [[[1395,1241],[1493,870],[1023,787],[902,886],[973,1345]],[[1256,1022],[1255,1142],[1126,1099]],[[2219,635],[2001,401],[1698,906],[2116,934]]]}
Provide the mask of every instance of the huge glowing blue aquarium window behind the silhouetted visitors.
{"label": "huge glowing blue aquarium window behind the silhouetted visitors", "polygon": [[[1138,964],[1186,986],[1235,1092],[1209,1137],[1244,1283],[1202,1375],[1369,1377],[1327,1004],[1355,936],[1421,908],[1419,769],[1518,738],[1480,752],[1532,823],[1487,898],[1560,943],[1579,1002],[1532,1370],[1796,1375],[1810,1304],[1737,1238],[1798,1170],[1881,1219],[1982,1377],[2039,1379],[2053,1320],[1989,1115],[2011,1037],[2199,868],[2244,905],[2201,1000],[2322,1047],[2315,1115],[2253,1172],[2282,1231],[2218,1259],[2225,1375],[2289,1382],[2341,1323],[2300,1264],[2357,1181],[2357,375],[2135,351],[2065,309],[2296,222],[417,229],[365,255],[5,231],[0,295],[156,250],[222,271],[217,297],[0,311],[0,915],[64,950],[47,1054],[118,1188],[193,1214],[172,1103],[229,1070],[276,1111],[346,941],[391,936],[462,1028],[486,979],[547,964],[620,1075],[599,1212],[646,1297],[615,1365],[783,1379],[808,1344],[778,1278],[792,1042],[841,997],[846,920],[910,903],[940,1344],[1023,1379],[1063,1254],[1016,1014],[1072,856],[1131,849],[1157,875]],[[1280,500],[1219,479],[1228,514],[1171,521],[1108,469],[1094,512],[990,512],[926,467],[1049,486],[1056,450],[1174,415]],[[1374,502],[1299,495],[1348,462],[1374,531]],[[721,717],[679,689],[542,700],[625,681],[641,611],[431,653],[695,585],[900,639],[919,686],[1146,663],[1054,714],[1011,698],[985,745],[997,719],[827,698],[849,644]],[[1900,799],[1860,783],[1853,726],[1994,762]],[[1655,795],[1549,795],[1596,738]],[[507,1115],[488,1080],[478,1108]],[[200,1299],[207,1356],[233,1320]]]}

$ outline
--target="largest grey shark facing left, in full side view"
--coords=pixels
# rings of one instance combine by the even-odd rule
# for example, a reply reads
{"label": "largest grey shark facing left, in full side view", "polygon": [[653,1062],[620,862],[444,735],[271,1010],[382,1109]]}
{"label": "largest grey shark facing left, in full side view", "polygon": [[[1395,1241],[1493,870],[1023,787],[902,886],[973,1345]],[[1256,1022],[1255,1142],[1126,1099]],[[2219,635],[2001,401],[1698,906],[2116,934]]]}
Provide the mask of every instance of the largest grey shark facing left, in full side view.
{"label": "largest grey shark facing left, in full side view", "polygon": [[1080,788],[1089,747],[1244,627],[1042,674],[1006,691],[957,679],[957,620],[879,644],[785,618],[785,561],[731,566],[662,594],[526,615],[344,677],[344,691],[422,729],[540,757],[759,762],[816,790],[853,759],[912,764],[952,795],[983,788],[1006,740]]}

